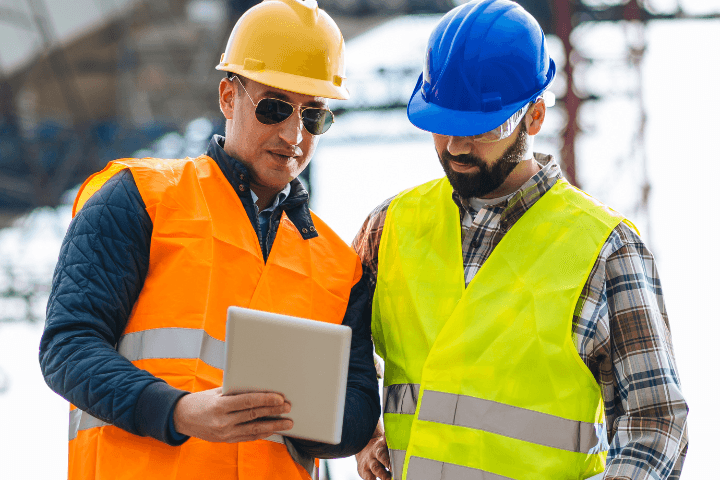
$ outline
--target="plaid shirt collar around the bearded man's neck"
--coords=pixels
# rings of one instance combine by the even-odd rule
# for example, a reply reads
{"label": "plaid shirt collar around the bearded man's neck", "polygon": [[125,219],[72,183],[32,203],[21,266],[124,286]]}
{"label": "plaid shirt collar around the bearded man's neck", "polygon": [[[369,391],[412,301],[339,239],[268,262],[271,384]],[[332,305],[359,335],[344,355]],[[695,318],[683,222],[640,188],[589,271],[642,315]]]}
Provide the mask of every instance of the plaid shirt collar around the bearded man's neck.
{"label": "plaid shirt collar around the bearded man's neck", "polygon": [[[560,166],[552,155],[535,153],[534,156],[535,161],[542,167],[540,171],[510,195],[507,200],[488,206],[488,209],[500,214],[499,226],[502,230],[509,230],[562,176]],[[460,208],[460,218],[464,218],[466,214],[471,218],[477,216],[478,211],[472,207],[469,199],[461,197],[457,192],[453,192],[452,198]]]}

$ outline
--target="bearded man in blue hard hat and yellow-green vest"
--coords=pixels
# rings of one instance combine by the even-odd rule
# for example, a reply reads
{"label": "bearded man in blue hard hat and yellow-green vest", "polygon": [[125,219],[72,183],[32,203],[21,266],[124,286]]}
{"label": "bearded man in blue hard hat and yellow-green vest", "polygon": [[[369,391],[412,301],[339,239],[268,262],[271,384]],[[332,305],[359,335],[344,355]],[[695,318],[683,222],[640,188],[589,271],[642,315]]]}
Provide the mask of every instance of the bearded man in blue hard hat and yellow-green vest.
{"label": "bearded man in blue hard hat and yellow-green vest", "polygon": [[533,152],[554,76],[508,0],[430,36],[408,118],[446,177],[385,201],[354,241],[385,364],[365,480],[680,476],[688,409],[652,254]]}

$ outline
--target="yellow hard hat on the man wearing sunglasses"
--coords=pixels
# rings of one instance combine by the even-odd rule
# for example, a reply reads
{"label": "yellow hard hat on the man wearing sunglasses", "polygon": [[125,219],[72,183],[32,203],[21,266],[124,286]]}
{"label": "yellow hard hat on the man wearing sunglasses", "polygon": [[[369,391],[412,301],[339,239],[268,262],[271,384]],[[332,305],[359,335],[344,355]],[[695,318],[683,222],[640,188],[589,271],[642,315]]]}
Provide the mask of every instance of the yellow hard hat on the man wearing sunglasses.
{"label": "yellow hard hat on the man wearing sunglasses", "polygon": [[264,0],[235,24],[217,70],[314,97],[347,100],[345,41],[317,0]]}

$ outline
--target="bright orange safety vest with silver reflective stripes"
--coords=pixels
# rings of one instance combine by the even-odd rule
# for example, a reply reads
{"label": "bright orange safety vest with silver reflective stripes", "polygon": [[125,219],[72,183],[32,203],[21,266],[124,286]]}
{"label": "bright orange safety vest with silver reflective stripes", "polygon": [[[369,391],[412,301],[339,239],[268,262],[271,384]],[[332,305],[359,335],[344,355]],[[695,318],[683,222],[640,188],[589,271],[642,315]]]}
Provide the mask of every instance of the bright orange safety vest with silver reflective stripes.
{"label": "bright orange safety vest with silver reflective stripes", "polygon": [[[362,267],[315,214],[318,236],[303,240],[283,213],[266,263],[237,194],[201,156],[110,162],[80,188],[73,215],[126,168],[153,222],[147,277],[117,346],[135,366],[189,392],[221,386],[231,305],[342,323]],[[172,447],[71,405],[70,479],[309,480],[316,465],[279,435]]]}

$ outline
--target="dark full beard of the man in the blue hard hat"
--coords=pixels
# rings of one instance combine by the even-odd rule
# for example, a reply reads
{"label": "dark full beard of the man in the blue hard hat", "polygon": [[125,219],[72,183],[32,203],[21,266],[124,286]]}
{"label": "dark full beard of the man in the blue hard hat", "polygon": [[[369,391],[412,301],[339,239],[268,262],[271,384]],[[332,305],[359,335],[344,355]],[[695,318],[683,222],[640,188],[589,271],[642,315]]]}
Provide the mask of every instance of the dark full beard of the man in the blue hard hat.
{"label": "dark full beard of the man in the blue hard hat", "polygon": [[[487,163],[481,158],[471,154],[450,155],[446,150],[439,154],[440,164],[445,170],[450,185],[463,198],[484,197],[490,192],[497,190],[503,184],[510,173],[525,158],[527,149],[527,127],[525,122],[520,123],[518,137],[512,145],[508,147],[502,157],[492,166],[488,167]],[[474,165],[480,170],[475,173],[459,173],[452,169],[450,161],[462,163],[464,165]]]}

